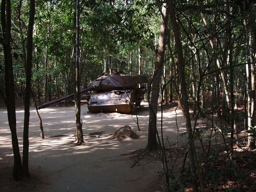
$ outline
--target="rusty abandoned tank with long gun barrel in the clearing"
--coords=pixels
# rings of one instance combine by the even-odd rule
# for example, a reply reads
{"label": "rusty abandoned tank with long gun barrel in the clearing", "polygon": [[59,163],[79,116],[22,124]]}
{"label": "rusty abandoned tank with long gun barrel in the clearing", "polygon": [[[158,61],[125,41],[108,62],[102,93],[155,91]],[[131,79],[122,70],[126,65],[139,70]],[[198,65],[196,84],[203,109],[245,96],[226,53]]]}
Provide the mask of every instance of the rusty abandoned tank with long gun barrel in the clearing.
{"label": "rusty abandoned tank with long gun barrel in the clearing", "polygon": [[[140,106],[146,88],[139,84],[147,83],[144,75],[124,75],[116,72],[112,75],[99,76],[91,81],[86,89],[80,90],[82,99],[87,100],[88,110],[92,113],[118,112],[129,114]],[[38,109],[74,97],[74,94],[38,106]]]}

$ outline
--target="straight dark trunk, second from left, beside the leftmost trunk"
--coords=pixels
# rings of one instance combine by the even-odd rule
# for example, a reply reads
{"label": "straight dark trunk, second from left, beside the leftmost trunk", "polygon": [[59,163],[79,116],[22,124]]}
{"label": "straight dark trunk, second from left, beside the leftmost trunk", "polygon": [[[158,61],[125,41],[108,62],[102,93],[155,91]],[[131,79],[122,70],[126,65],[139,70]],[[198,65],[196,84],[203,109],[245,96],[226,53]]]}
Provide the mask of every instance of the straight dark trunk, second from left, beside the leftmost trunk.
{"label": "straight dark trunk, second from left, beside the leftmost trunk", "polygon": [[26,89],[24,102],[24,129],[23,129],[23,157],[22,174],[30,177],[29,174],[29,106],[31,90],[32,52],[33,52],[33,26],[35,18],[35,0],[30,0],[29,27],[27,33],[27,63],[26,63]]}

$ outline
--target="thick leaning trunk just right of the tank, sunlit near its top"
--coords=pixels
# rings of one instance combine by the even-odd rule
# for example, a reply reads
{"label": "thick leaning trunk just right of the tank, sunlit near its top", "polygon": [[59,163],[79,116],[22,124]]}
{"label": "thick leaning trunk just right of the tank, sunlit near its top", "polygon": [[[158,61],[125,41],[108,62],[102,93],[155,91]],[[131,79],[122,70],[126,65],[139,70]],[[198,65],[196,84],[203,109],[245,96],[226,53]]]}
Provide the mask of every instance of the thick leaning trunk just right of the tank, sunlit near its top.
{"label": "thick leaning trunk just right of the tank, sunlit near its top", "polygon": [[166,6],[162,7],[163,17],[161,19],[161,28],[158,41],[158,51],[157,60],[154,67],[154,76],[151,87],[151,99],[150,99],[150,113],[149,113],[149,125],[148,125],[148,143],[146,150],[154,151],[159,149],[159,144],[157,143],[157,104],[159,97],[159,84],[161,80],[163,61],[165,56],[165,45],[167,38],[167,19],[168,14],[166,11]]}

